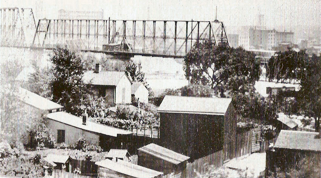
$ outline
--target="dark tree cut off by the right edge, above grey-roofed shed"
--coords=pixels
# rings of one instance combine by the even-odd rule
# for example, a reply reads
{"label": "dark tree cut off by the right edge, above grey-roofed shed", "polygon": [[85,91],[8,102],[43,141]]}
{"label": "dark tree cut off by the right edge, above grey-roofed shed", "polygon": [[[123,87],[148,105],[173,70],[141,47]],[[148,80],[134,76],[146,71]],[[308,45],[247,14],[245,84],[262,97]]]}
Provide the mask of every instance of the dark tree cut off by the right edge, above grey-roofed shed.
{"label": "dark tree cut off by the right edge, above grey-roofed shed", "polygon": [[297,100],[301,112],[315,119],[316,131],[320,129],[321,113],[321,57],[312,55],[302,69],[301,89]]}

